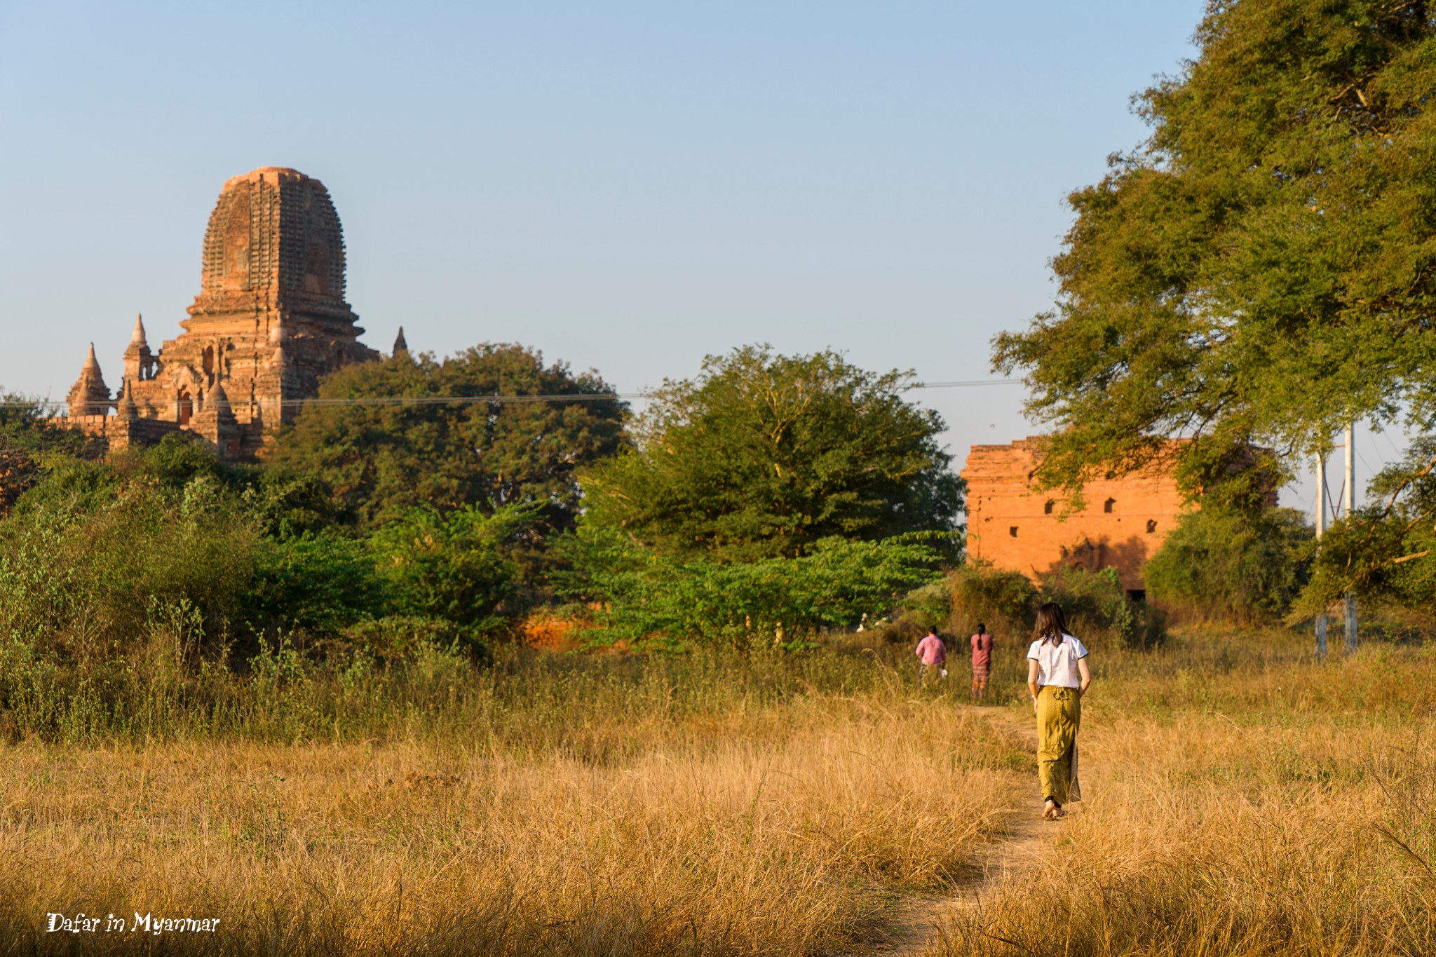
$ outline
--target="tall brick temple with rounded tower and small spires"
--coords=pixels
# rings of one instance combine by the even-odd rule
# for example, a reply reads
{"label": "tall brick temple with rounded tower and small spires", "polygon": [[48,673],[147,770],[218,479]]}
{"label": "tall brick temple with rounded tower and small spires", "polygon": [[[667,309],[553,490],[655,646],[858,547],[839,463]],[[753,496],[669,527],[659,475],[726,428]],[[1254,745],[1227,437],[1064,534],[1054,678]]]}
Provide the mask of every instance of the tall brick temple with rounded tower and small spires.
{"label": "tall brick temple with rounded tower and small spires", "polygon": [[111,449],[171,432],[227,459],[253,458],[319,379],[379,357],[345,301],[345,240],[329,191],[264,166],[224,184],[204,234],[200,294],[184,331],[151,350],[142,319],[111,396],[90,346],[67,423]]}

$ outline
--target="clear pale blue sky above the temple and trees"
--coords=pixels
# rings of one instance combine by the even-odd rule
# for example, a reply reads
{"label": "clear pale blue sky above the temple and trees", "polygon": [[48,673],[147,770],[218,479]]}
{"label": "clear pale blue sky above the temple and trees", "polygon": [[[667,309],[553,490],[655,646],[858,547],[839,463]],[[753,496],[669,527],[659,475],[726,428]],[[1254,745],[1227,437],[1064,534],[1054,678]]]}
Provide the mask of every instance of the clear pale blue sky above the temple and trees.
{"label": "clear pale blue sky above the temple and trees", "polygon": [[[623,392],[751,341],[982,379],[1200,11],[0,0],[0,387],[63,396],[90,340],[118,386],[263,165],[329,187],[385,352],[521,341]],[[916,395],[959,465],[1030,430],[1021,387]]]}

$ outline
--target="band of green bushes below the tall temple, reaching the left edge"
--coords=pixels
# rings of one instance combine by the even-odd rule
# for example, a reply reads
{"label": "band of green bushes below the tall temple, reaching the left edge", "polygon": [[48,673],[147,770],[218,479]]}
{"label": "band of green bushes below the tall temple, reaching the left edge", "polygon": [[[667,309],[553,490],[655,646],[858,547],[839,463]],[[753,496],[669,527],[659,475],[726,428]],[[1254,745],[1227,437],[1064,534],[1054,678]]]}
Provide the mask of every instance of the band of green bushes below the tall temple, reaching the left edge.
{"label": "band of green bushes below the tall temple, reaching the left edge", "polygon": [[0,631],[98,659],[178,608],[241,653],[296,630],[382,634],[389,618],[472,646],[514,594],[513,539],[534,509],[414,508],[362,534],[323,521],[320,491],[178,435],[109,461],[55,458],[0,521]]}

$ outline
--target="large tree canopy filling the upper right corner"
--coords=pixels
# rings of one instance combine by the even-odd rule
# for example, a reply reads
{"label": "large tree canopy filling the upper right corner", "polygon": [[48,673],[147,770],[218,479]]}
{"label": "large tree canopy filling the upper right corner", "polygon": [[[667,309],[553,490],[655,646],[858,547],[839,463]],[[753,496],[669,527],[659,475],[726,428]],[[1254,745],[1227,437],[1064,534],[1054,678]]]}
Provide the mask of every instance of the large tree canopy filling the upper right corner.
{"label": "large tree canopy filling the upper right corner", "polygon": [[1053,268],[995,340],[1077,485],[1188,435],[1190,489],[1236,449],[1305,468],[1347,419],[1436,422],[1436,19],[1403,0],[1212,0],[1200,55],[1136,98]]}

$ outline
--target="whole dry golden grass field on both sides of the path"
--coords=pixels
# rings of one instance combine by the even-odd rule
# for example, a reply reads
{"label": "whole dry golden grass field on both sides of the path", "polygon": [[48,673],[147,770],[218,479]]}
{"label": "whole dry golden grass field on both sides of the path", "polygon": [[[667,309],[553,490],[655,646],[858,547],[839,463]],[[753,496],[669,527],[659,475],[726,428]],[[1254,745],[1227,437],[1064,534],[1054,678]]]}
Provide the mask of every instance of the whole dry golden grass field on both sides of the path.
{"label": "whole dry golden grass field on both sides of the path", "polygon": [[[1087,801],[982,881],[1037,814],[1021,644],[985,709],[906,649],[538,654],[365,720],[299,684],[303,720],[32,735],[0,752],[0,950],[862,954],[948,895],[978,904],[923,953],[1436,953],[1429,646],[1096,649]],[[220,930],[46,931],[82,911]]]}

